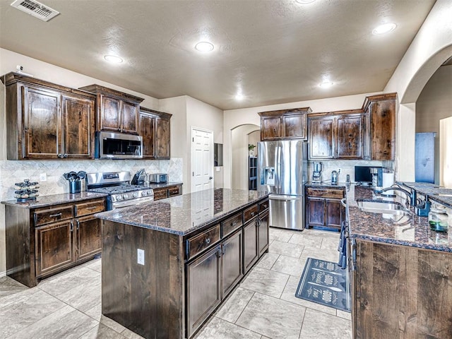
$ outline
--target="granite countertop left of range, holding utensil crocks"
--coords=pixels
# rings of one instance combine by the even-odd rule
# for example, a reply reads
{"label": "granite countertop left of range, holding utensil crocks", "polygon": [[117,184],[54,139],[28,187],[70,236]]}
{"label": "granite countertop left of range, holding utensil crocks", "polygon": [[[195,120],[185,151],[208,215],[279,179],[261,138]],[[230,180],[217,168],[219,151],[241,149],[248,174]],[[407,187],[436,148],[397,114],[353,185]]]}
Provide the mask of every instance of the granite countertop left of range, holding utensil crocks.
{"label": "granite countertop left of range, holding utensil crocks", "polygon": [[16,206],[20,208],[40,208],[52,206],[58,203],[73,203],[74,201],[83,201],[93,198],[104,198],[108,194],[83,191],[76,194],[52,194],[50,196],[38,196],[36,200],[18,203],[16,199],[1,201],[4,205]]}

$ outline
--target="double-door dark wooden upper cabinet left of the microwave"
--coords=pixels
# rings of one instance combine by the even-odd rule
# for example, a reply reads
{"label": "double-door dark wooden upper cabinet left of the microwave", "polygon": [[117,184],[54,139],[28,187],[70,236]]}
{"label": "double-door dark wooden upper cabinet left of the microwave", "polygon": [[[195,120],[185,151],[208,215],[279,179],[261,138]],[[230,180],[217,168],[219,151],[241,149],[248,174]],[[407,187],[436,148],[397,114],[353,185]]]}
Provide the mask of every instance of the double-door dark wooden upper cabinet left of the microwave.
{"label": "double-door dark wooden upper cabinet left of the microwave", "polygon": [[93,158],[95,95],[18,73],[1,80],[8,160]]}

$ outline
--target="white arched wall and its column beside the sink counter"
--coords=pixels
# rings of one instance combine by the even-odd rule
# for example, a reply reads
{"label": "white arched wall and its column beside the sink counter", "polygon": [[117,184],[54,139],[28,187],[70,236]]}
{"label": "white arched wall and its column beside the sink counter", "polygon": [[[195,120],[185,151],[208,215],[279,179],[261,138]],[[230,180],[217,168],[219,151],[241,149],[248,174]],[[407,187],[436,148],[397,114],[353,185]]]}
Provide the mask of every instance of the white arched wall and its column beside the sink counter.
{"label": "white arched wall and its column beside the sink counter", "polygon": [[[429,78],[452,55],[452,3],[437,0],[384,92],[397,92],[398,179],[415,179],[416,101]],[[403,127],[402,127],[403,126]]]}

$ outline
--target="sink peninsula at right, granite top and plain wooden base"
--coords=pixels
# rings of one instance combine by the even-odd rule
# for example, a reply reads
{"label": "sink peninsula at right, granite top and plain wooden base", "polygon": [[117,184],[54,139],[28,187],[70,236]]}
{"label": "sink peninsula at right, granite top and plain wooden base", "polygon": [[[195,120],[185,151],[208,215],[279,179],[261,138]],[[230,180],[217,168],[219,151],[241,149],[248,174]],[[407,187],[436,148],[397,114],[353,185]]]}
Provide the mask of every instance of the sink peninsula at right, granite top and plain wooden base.
{"label": "sink peninsula at right, granite top and plain wooden base", "polygon": [[371,189],[346,194],[353,338],[452,338],[452,231],[362,210],[358,201],[382,199]]}

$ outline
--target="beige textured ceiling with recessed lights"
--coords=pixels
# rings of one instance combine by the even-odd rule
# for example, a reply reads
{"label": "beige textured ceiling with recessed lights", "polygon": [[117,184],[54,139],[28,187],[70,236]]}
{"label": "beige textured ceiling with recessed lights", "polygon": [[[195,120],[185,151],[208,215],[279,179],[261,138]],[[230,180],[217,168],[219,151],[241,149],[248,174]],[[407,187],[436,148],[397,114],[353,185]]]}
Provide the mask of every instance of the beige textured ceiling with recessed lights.
{"label": "beige textured ceiling with recessed lights", "polygon": [[[159,99],[190,95],[220,109],[383,90],[434,5],[42,0],[61,13],[46,23],[12,2],[0,0],[0,47]],[[398,28],[371,34],[388,22]],[[196,51],[199,40],[215,44],[213,52]],[[107,64],[105,54],[124,62]],[[335,85],[319,88],[324,78]]]}

